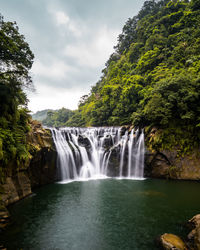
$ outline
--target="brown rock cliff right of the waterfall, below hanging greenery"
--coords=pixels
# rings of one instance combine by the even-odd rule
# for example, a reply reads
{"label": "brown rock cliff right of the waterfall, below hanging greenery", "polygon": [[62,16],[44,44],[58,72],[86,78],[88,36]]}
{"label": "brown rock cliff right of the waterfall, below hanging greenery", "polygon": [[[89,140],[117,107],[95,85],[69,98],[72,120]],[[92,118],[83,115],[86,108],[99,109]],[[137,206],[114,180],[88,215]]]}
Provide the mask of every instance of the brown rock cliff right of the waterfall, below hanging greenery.
{"label": "brown rock cliff right of the waterfall, below hanging greenery", "polygon": [[[151,140],[153,134],[148,135]],[[149,143],[147,143],[149,145]],[[147,147],[145,175],[154,178],[200,180],[200,149],[180,155],[179,149],[152,150]]]}

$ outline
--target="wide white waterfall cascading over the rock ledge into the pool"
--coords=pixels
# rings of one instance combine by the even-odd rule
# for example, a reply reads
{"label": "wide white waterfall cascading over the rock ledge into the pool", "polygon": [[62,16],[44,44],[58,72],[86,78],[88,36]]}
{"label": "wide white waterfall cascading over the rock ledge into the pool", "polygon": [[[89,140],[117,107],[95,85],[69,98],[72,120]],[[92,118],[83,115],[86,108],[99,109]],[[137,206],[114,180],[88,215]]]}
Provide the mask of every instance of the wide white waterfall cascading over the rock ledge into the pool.
{"label": "wide white waterfall cascading over the rock ledge into the pool", "polygon": [[100,179],[110,176],[143,178],[145,152],[143,131],[101,127],[52,128],[51,132],[58,154],[60,181]]}

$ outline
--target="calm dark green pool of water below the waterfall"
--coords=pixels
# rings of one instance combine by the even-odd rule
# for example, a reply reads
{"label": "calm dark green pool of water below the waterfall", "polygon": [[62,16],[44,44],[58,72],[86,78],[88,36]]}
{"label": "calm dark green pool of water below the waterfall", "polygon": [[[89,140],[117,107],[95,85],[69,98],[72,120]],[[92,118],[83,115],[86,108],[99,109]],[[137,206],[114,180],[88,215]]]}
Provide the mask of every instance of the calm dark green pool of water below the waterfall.
{"label": "calm dark green pool of water below the waterfall", "polygon": [[162,233],[186,234],[200,212],[200,183],[97,180],[53,184],[10,208],[8,249],[157,249]]}

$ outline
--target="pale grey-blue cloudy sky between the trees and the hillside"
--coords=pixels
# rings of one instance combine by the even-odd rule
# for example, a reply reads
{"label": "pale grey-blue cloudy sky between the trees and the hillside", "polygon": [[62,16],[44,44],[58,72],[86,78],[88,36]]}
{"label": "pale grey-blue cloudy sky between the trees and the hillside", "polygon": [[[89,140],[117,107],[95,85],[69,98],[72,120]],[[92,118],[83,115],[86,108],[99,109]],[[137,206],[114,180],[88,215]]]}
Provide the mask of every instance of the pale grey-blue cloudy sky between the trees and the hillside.
{"label": "pale grey-blue cloudy sky between the trees and the hillside", "polygon": [[129,17],[143,0],[0,0],[6,21],[16,21],[35,55],[33,112],[76,109],[99,80]]}

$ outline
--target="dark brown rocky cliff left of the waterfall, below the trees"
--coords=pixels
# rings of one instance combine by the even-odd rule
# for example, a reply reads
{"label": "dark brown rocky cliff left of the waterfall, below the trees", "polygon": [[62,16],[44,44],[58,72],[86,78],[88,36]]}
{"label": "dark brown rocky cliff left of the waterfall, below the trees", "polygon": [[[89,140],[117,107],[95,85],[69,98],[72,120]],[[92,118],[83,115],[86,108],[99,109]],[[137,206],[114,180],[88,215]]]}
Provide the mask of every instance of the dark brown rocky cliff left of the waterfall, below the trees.
{"label": "dark brown rocky cliff left of the waterfall, below the trees", "polygon": [[5,206],[12,204],[32,193],[32,189],[55,181],[56,151],[51,132],[41,124],[32,121],[32,130],[27,134],[30,157],[17,167],[12,161],[6,167],[5,178],[0,184],[0,228],[6,223],[8,213]]}

